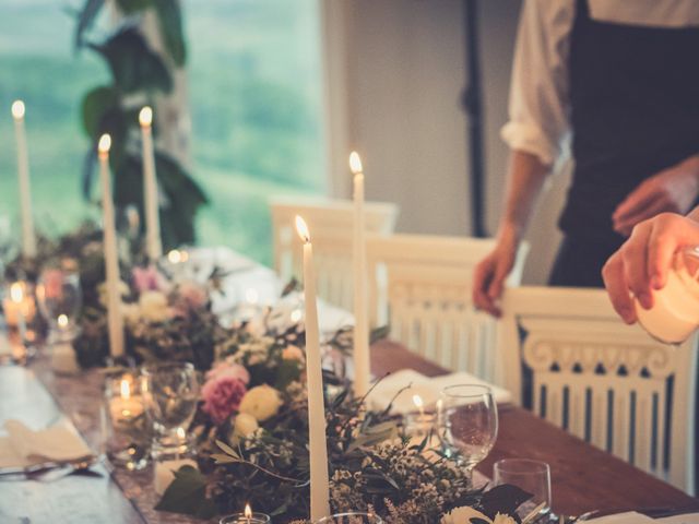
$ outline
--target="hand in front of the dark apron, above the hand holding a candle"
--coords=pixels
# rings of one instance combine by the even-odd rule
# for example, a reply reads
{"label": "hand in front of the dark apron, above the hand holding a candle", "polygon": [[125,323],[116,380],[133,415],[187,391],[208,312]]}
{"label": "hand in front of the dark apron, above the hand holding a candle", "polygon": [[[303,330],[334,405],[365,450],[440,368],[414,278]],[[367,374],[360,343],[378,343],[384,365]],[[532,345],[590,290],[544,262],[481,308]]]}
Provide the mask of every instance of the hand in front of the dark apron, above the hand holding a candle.
{"label": "hand in front of the dark apron, above the hand holding a candle", "polygon": [[691,156],[641,182],[612,215],[614,230],[628,237],[633,226],[660,213],[687,214],[699,196],[699,156]]}

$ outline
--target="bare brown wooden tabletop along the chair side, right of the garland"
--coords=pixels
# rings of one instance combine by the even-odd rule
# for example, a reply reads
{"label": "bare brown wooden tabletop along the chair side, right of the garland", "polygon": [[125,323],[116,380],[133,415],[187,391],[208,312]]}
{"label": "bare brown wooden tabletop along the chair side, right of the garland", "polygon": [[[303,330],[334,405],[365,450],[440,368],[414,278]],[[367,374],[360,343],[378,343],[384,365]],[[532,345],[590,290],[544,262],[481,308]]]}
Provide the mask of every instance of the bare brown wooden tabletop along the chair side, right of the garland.
{"label": "bare brown wooden tabletop along the chair side, right of the garland", "polygon": [[[447,372],[389,341],[375,344],[371,357],[377,377],[402,368],[430,377]],[[491,477],[495,462],[509,457],[535,458],[550,465],[556,513],[580,515],[591,510],[666,507],[699,511],[698,499],[513,405],[500,406],[497,442],[477,468]]]}

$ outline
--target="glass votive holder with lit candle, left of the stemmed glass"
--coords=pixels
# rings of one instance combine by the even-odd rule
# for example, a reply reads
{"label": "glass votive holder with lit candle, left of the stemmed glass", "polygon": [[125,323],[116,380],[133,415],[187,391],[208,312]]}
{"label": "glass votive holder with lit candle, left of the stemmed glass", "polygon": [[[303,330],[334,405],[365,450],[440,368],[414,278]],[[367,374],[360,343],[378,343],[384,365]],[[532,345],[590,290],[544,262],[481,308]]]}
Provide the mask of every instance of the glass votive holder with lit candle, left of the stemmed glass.
{"label": "glass votive holder with lit candle, left of the stemmed glass", "polygon": [[143,469],[149,463],[152,430],[140,381],[129,372],[108,378],[105,400],[107,457],[115,466]]}

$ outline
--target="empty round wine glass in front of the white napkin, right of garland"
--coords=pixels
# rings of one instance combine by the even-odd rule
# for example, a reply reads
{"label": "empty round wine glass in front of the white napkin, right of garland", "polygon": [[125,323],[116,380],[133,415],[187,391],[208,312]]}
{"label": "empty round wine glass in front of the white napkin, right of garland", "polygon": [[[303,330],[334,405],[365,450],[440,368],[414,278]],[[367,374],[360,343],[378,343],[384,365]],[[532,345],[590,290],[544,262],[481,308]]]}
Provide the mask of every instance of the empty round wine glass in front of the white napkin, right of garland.
{"label": "empty round wine glass in front of the white napkin, right of garland", "polygon": [[498,434],[498,410],[487,385],[451,385],[441,391],[439,437],[469,473],[483,461]]}

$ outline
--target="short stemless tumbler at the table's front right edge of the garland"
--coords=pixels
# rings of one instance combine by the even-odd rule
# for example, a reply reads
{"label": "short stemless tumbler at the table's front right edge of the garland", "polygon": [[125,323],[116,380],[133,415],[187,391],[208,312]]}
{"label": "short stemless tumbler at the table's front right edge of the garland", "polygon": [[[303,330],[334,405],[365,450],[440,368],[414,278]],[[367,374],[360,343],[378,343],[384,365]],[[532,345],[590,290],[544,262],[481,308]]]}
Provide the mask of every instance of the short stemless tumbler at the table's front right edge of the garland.
{"label": "short stemless tumbler at the table's front right edge of the garland", "polygon": [[526,516],[542,502],[545,504],[541,515],[550,512],[550,467],[541,461],[529,458],[502,458],[493,466],[493,483],[496,486],[509,484],[532,493],[532,498],[522,504],[518,513]]}

